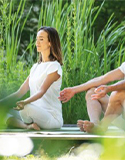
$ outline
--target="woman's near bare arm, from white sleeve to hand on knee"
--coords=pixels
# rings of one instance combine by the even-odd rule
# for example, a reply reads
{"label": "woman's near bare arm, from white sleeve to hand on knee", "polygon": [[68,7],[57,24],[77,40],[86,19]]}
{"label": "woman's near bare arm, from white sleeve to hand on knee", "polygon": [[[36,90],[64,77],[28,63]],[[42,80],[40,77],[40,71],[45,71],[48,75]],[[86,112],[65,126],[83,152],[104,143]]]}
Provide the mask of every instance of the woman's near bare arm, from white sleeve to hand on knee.
{"label": "woman's near bare arm, from white sleeve to hand on knee", "polygon": [[[41,98],[46,91],[48,90],[48,88],[52,85],[53,82],[57,81],[59,79],[60,75],[56,72],[48,74],[44,83],[42,84],[42,86],[40,87],[39,91],[34,94],[33,96],[23,100],[23,101],[19,101],[17,102],[18,107],[15,108],[17,110],[21,110],[24,108],[24,106],[28,103],[31,103],[33,101],[38,100],[39,98]],[[48,97],[49,98],[49,97]]]}

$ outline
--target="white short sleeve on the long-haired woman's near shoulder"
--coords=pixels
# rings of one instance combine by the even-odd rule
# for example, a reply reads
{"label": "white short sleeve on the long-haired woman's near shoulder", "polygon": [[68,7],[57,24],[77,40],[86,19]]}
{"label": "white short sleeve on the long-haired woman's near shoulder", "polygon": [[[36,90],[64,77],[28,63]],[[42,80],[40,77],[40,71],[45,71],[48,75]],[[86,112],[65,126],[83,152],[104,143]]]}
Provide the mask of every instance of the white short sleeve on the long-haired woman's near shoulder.
{"label": "white short sleeve on the long-haired woman's near shoulder", "polygon": [[56,72],[62,77],[62,68],[58,62],[53,62],[47,69],[47,74]]}

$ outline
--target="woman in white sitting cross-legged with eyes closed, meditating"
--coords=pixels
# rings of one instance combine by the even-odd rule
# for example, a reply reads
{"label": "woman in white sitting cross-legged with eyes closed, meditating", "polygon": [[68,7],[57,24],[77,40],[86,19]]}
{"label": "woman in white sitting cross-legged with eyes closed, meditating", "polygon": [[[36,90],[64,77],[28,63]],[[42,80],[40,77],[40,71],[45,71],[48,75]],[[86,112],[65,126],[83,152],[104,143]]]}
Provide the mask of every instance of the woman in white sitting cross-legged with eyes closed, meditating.
{"label": "woman in white sitting cross-legged with eyes closed, meditating", "polygon": [[38,63],[20,89],[8,98],[19,99],[30,91],[30,97],[17,102],[14,109],[20,118],[10,115],[7,125],[24,129],[52,129],[63,125],[59,92],[62,83],[62,52],[58,32],[52,27],[41,27],[36,37]]}

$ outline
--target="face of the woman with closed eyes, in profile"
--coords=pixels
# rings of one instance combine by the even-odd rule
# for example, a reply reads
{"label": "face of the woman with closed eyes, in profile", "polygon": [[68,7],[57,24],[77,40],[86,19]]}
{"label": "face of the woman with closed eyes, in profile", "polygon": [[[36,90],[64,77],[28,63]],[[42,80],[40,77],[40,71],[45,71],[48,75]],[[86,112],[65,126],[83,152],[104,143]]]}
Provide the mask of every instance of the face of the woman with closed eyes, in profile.
{"label": "face of the woman with closed eyes, in profile", "polygon": [[37,47],[37,52],[44,52],[50,49],[50,42],[48,40],[48,34],[44,30],[40,30],[37,33],[36,47]]}

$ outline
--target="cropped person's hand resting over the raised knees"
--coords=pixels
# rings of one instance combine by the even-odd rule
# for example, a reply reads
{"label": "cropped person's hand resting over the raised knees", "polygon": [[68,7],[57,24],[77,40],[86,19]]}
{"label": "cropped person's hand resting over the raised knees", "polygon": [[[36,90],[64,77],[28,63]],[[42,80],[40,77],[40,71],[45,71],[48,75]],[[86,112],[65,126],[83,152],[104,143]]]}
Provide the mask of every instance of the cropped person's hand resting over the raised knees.
{"label": "cropped person's hand resting over the raised knees", "polygon": [[108,93],[108,86],[102,85],[95,89],[95,94],[91,96],[92,100],[100,99]]}

